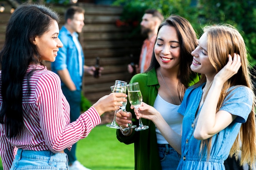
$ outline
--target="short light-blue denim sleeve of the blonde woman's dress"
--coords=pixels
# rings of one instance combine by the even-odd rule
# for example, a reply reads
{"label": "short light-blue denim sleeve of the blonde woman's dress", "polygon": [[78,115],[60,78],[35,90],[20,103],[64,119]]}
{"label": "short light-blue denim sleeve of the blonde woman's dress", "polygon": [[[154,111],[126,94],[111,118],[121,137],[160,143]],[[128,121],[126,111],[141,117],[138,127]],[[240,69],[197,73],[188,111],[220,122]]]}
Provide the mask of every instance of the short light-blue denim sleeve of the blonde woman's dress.
{"label": "short light-blue denim sleeve of the blonde woman's dress", "polygon": [[236,115],[235,122],[245,123],[252,110],[253,92],[245,86],[230,87],[229,91],[231,92],[223,101],[220,110]]}

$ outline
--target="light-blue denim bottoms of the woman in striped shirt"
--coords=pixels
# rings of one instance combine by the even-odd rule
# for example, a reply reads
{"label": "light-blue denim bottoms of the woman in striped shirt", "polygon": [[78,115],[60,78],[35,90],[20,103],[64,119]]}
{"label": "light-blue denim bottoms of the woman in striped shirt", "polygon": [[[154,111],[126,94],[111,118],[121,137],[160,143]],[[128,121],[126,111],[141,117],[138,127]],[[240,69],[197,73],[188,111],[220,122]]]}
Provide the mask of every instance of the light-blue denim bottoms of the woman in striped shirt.
{"label": "light-blue denim bottoms of the woman in striped shirt", "polygon": [[18,149],[10,170],[67,170],[67,154]]}

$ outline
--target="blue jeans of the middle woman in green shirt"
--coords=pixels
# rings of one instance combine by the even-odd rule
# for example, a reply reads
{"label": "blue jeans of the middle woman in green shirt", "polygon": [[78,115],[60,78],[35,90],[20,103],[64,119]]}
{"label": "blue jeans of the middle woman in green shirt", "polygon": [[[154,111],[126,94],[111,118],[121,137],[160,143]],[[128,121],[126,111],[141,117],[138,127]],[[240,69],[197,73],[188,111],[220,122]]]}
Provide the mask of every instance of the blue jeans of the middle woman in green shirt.
{"label": "blue jeans of the middle woman in green shirt", "polygon": [[158,144],[158,153],[162,170],[177,170],[180,162],[180,154],[169,144]]}

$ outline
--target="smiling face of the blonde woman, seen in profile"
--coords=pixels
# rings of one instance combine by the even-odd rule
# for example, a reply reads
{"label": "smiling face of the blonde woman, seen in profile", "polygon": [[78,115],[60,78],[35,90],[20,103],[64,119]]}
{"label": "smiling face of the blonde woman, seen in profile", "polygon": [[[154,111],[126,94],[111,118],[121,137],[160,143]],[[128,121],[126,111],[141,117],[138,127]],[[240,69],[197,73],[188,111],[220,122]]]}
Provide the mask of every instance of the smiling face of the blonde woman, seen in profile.
{"label": "smiling face of the blonde woman, seen in profile", "polygon": [[207,33],[204,33],[198,41],[197,48],[191,52],[194,57],[190,68],[193,72],[214,77],[216,70],[210,62],[207,50]]}

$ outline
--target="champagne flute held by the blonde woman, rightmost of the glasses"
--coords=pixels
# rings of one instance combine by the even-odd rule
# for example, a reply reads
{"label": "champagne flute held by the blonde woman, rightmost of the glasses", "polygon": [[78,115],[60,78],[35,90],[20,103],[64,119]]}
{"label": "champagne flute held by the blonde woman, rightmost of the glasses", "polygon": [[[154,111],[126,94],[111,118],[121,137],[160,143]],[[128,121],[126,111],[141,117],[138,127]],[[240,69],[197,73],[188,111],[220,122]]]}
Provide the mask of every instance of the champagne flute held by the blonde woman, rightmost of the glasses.
{"label": "champagne flute held by the blonde woman, rightmost of the glasses", "polygon": [[[142,102],[142,95],[139,89],[139,83],[132,83],[127,85],[128,89],[128,98],[130,104],[135,108],[138,109],[139,105]],[[138,110],[139,111],[139,110]],[[142,124],[141,118],[139,117],[139,126],[135,128],[135,131],[142,131],[148,129],[148,126]]]}

